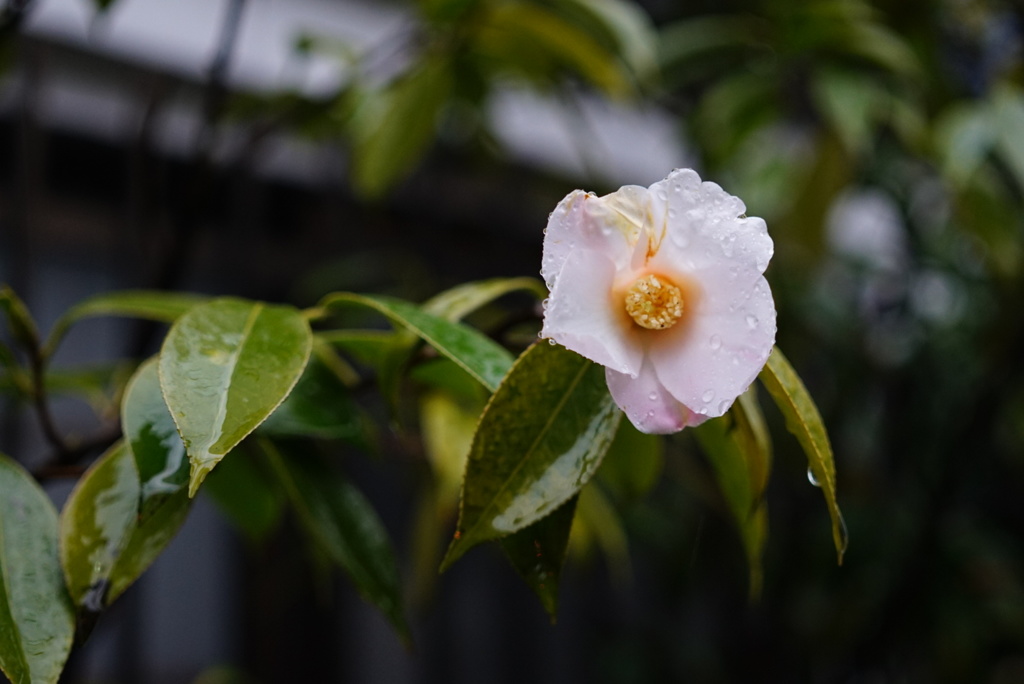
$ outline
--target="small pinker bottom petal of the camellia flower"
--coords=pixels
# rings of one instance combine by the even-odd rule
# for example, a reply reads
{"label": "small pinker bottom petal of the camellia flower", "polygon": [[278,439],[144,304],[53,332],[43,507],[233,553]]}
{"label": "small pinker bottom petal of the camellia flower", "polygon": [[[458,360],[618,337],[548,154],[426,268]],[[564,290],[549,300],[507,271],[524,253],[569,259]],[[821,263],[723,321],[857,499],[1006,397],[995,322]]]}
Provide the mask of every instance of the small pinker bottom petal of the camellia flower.
{"label": "small pinker bottom petal of the camellia flower", "polygon": [[611,398],[641,432],[670,434],[706,420],[672,396],[658,382],[648,359],[636,378],[611,369],[606,369],[604,376]]}

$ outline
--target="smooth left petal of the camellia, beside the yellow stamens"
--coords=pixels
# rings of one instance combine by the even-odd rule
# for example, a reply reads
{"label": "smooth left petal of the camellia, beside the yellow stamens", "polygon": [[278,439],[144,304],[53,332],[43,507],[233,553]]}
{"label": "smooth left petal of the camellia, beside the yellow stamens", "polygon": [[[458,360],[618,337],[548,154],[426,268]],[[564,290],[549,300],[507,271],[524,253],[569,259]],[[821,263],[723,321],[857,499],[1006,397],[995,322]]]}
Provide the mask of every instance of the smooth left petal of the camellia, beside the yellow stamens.
{"label": "smooth left petal of the camellia, beside the yellow stamens", "polygon": [[541,337],[635,376],[640,372],[643,347],[626,309],[613,301],[614,277],[615,264],[602,252],[569,252],[547,301]]}

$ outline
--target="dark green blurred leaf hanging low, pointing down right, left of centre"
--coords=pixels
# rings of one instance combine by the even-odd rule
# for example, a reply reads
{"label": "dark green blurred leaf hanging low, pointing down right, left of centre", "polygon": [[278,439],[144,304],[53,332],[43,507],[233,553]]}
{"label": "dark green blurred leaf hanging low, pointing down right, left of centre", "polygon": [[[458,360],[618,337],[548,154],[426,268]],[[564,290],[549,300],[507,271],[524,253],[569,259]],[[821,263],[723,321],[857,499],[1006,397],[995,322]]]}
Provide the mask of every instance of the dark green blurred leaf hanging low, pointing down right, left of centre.
{"label": "dark green blurred leaf hanging low, pointing down right, left of centre", "polygon": [[287,458],[270,442],[262,444],[306,532],[345,570],[356,591],[408,639],[398,566],[373,506],[340,472],[314,455]]}

